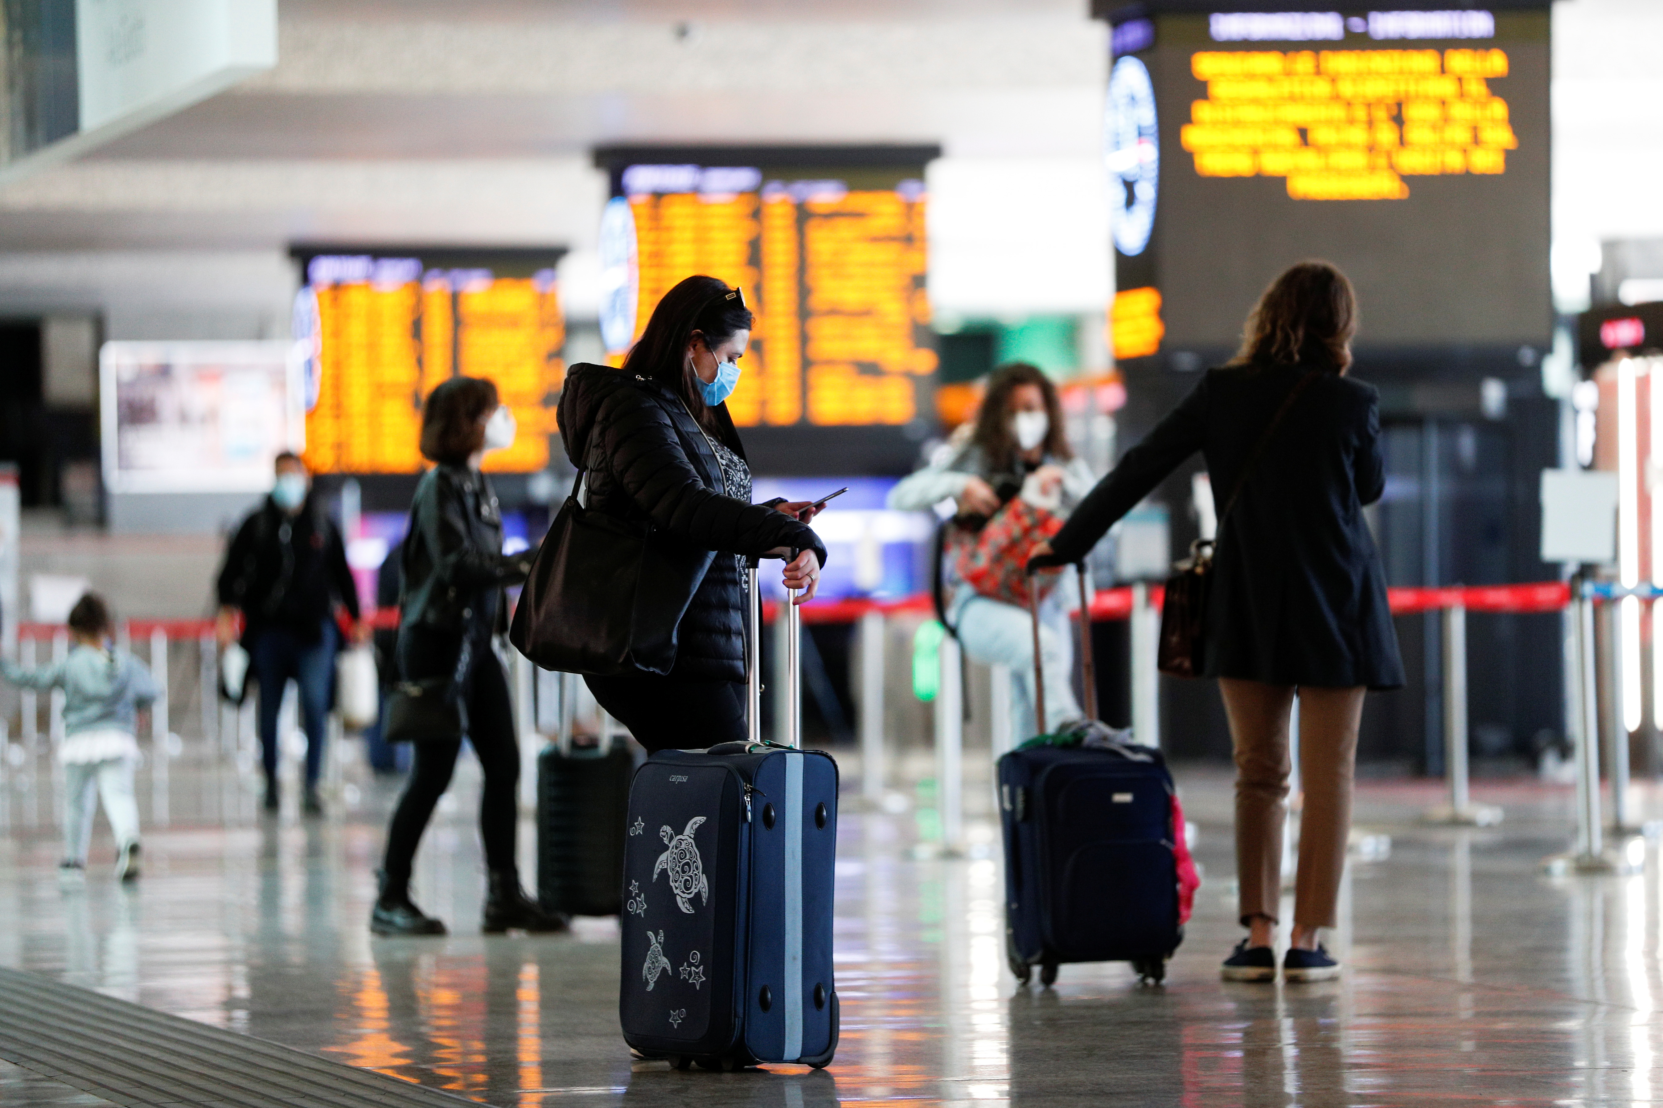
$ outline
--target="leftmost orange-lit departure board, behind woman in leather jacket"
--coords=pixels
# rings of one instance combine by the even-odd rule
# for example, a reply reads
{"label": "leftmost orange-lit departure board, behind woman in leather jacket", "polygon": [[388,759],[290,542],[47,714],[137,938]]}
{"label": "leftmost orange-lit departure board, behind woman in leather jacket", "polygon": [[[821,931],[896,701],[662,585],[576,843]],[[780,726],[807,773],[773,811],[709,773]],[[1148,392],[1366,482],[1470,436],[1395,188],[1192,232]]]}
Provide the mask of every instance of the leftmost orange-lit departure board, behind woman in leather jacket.
{"label": "leftmost orange-lit departure board, behind woman in leather jacket", "polygon": [[[452,375],[487,377],[519,432],[484,468],[547,468],[565,379],[559,249],[298,249],[306,281],[306,463],[319,473],[417,473],[421,407]],[[554,449],[559,449],[554,444]]]}

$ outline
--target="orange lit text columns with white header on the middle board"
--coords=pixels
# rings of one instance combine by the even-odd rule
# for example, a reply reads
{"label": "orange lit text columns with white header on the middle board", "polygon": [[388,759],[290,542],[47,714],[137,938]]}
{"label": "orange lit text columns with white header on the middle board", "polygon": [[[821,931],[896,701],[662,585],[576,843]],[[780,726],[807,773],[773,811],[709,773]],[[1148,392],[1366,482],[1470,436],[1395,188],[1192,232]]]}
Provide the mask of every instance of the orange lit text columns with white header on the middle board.
{"label": "orange lit text columns with white header on the middle board", "polygon": [[[693,173],[683,183],[669,169]],[[710,274],[742,287],[757,314],[743,375],[727,402],[735,424],[845,427],[916,419],[918,379],[936,369],[923,188],[915,181],[855,189],[835,179],[770,179],[755,191],[712,193],[713,173],[697,166],[624,173],[625,188],[693,188],[697,178],[702,189],[629,196],[637,337],[670,287]],[[720,173],[747,183],[740,169]]]}

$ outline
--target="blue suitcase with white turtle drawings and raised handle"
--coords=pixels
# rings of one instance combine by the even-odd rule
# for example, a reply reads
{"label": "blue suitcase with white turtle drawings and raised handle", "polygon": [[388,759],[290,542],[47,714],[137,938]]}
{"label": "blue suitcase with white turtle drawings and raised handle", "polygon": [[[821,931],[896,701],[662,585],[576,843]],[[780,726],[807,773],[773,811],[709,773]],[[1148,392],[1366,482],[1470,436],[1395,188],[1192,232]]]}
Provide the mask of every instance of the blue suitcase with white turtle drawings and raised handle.
{"label": "blue suitcase with white turtle drawings and raised handle", "polygon": [[[755,568],[750,595],[755,628]],[[630,784],[619,1020],[635,1052],[682,1070],[820,1068],[836,1053],[836,762],[760,741],[755,635],[747,655],[752,741],[659,751]],[[795,664],[788,674],[797,739]]]}

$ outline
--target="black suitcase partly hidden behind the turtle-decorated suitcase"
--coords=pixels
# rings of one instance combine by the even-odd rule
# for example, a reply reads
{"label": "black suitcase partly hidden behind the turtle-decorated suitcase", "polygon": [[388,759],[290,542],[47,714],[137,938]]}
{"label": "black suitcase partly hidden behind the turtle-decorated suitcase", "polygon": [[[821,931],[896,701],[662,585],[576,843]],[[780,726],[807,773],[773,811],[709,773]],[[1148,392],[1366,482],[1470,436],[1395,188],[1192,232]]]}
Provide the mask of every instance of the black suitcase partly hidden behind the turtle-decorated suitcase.
{"label": "black suitcase partly hidden behind the turtle-decorated suitcase", "polygon": [[629,782],[640,762],[627,739],[550,743],[537,754],[537,902],[545,912],[619,915]]}

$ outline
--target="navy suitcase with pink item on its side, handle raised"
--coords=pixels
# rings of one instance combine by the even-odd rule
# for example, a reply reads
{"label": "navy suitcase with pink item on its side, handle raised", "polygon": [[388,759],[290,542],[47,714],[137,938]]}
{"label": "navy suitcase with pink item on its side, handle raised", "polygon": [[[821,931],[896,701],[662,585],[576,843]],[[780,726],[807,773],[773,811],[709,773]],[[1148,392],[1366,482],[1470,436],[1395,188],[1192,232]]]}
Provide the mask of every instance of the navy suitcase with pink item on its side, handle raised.
{"label": "navy suitcase with pink item on its side, handle raised", "polygon": [[[1078,568],[1086,610],[1086,568]],[[1029,608],[1043,721],[1036,598]],[[1096,719],[1091,621],[1079,623],[1086,716]],[[1064,962],[1131,962],[1142,980],[1159,982],[1184,939],[1182,909],[1194,894],[1181,882],[1194,870],[1161,753],[1118,743],[1024,744],[999,759],[998,789],[1006,954],[1016,980],[1026,985],[1034,965],[1049,985]]]}

